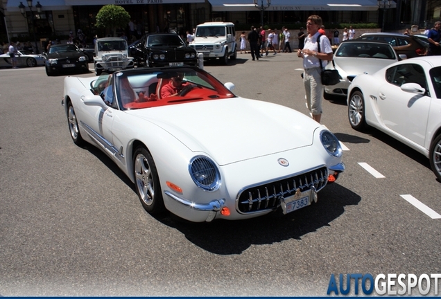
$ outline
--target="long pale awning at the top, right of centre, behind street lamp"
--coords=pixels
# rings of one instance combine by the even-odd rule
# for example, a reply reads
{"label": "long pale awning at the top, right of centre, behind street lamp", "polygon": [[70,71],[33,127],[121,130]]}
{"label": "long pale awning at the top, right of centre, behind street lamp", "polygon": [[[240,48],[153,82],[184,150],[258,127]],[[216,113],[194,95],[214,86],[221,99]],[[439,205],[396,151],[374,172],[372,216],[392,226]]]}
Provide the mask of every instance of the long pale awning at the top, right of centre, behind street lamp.
{"label": "long pale awning at the top, right of centre, behind street lamp", "polygon": [[[208,0],[213,11],[259,10],[252,0]],[[257,1],[259,4],[261,0]],[[266,1],[263,1],[266,4]],[[272,0],[267,11],[284,10],[378,10],[377,0]]]}

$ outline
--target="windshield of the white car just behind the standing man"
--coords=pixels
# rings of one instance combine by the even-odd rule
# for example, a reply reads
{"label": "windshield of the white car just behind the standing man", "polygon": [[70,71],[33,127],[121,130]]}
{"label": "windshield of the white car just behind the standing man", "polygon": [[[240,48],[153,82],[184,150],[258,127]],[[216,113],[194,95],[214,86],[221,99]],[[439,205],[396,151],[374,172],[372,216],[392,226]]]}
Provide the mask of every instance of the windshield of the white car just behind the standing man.
{"label": "windshield of the white car just behind the standing man", "polygon": [[388,44],[343,42],[336,57],[364,57],[395,60],[395,52]]}

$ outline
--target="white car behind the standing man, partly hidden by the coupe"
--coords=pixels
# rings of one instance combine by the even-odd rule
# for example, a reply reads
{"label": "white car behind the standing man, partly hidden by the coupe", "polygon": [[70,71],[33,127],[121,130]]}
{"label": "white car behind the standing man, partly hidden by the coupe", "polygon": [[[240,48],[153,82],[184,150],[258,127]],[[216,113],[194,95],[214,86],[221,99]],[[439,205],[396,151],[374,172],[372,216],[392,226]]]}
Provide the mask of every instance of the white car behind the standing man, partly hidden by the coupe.
{"label": "white car behind the standing man, partly hidden by the coupe", "polygon": [[[401,58],[406,58],[406,55]],[[326,69],[338,70],[340,82],[325,86],[323,96],[327,100],[346,99],[347,87],[356,75],[375,73],[397,61],[398,56],[387,42],[356,39],[342,42],[334,53],[332,62],[326,66]]]}

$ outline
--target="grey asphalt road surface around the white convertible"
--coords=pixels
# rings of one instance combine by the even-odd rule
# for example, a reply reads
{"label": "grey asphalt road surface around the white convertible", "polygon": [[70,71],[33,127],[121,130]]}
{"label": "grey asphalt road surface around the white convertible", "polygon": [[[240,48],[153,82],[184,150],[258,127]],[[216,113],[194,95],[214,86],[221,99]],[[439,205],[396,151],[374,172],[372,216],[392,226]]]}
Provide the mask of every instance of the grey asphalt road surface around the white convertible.
{"label": "grey asphalt road surface around the white convertible", "polygon": [[[205,65],[239,96],[309,114],[299,69],[295,53]],[[0,70],[0,296],[326,296],[333,273],[441,272],[441,219],[404,199],[441,214],[429,161],[354,131],[345,102],[324,102],[347,169],[318,203],[192,224],[150,216],[105,154],[72,143],[63,80]]]}

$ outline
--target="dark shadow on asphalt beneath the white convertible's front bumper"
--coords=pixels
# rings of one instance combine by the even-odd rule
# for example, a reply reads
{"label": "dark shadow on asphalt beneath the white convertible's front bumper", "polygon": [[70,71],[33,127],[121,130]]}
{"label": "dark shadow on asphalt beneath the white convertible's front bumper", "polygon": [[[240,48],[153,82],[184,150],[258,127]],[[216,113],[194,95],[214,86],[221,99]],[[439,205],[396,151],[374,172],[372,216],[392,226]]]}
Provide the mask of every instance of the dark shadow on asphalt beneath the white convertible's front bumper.
{"label": "dark shadow on asphalt beneath the white convertible's front bumper", "polygon": [[354,192],[337,183],[319,192],[318,203],[283,215],[279,210],[254,219],[211,223],[193,223],[173,215],[157,217],[163,224],[180,230],[187,239],[211,253],[219,255],[241,254],[252,245],[273,244],[287,239],[301,239],[338,218],[345,206],[361,201]]}

